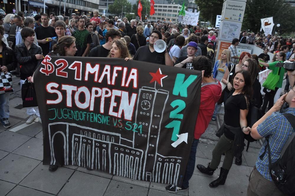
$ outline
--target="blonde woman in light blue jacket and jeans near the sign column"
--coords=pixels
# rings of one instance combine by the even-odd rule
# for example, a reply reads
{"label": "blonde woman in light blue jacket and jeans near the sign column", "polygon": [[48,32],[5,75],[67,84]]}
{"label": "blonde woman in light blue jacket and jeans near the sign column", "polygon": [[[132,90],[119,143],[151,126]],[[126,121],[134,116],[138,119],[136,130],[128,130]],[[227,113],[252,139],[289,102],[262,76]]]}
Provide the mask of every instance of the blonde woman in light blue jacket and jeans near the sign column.
{"label": "blonde woman in light blue jacket and jeans near the sign column", "polygon": [[[234,66],[231,62],[230,62],[230,50],[223,50],[220,56],[220,59],[218,61],[216,61],[214,68],[213,68],[213,78],[217,79],[218,81],[222,82],[222,78],[227,70],[227,67],[231,67]],[[226,87],[225,87],[226,88]],[[219,113],[220,109],[221,109],[221,105],[223,102],[223,96],[224,94],[221,95],[221,100],[219,102],[217,102],[216,106],[215,106],[215,110],[212,116],[212,120],[215,121],[216,120],[216,115]]]}

